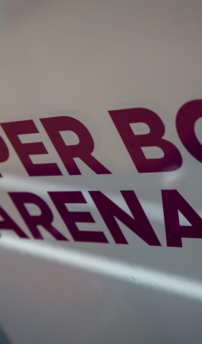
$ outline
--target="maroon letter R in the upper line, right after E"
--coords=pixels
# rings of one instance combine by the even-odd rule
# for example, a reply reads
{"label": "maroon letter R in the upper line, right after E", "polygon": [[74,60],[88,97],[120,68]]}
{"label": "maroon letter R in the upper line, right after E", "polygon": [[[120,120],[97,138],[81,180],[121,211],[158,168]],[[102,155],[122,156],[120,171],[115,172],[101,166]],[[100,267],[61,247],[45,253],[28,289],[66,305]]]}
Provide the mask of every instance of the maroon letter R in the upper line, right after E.
{"label": "maroon letter R in the upper line, right after E", "polygon": [[[40,121],[69,174],[81,174],[74,158],[80,158],[97,174],[111,173],[91,155],[94,141],[88,129],[80,121],[68,116],[41,118]],[[65,130],[73,131],[78,136],[79,143],[67,146],[60,135],[60,131]]]}

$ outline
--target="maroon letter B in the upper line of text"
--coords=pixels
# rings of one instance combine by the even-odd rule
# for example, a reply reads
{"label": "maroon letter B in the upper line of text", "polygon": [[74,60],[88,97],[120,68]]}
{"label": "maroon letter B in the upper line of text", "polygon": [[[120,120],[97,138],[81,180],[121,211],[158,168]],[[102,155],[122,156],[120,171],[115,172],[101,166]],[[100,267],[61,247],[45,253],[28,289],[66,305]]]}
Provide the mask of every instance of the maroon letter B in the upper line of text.
{"label": "maroon letter B in the upper line of text", "polygon": [[[145,108],[133,108],[113,110],[109,111],[109,114],[139,173],[174,171],[181,167],[181,154],[173,143],[162,139],[165,133],[164,124],[155,112]],[[130,123],[139,122],[149,126],[148,134],[134,135]],[[153,146],[162,149],[162,158],[145,157],[141,148]]]}

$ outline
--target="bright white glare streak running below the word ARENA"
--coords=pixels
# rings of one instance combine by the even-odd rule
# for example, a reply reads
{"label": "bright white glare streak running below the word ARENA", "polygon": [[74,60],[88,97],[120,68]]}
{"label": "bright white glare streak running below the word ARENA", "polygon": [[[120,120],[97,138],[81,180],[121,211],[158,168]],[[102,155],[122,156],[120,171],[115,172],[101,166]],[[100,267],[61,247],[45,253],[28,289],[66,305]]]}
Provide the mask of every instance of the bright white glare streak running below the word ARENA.
{"label": "bright white glare streak running below the word ARENA", "polygon": [[202,282],[49,243],[1,238],[0,248],[202,301]]}

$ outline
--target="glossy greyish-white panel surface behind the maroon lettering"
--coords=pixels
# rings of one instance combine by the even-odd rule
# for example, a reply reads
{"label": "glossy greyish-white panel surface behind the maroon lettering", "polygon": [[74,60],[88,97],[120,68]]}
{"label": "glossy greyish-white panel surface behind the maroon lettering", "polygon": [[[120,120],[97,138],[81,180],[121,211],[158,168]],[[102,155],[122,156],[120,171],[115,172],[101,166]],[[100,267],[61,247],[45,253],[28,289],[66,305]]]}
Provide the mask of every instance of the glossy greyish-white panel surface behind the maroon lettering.
{"label": "glossy greyish-white panel surface behind the maroon lettering", "polygon": [[[202,98],[201,13],[194,0],[0,1],[1,122],[33,119],[40,133],[22,140],[42,140],[49,155],[32,161],[57,162],[63,173],[29,177],[0,128],[10,152],[0,163],[0,205],[30,235],[7,192],[36,193],[70,240],[59,243],[43,228],[40,242],[1,230],[0,324],[13,344],[201,343],[202,239],[167,247],[161,199],[161,189],[177,189],[202,216],[202,164],[175,127],[179,108]],[[164,137],[182,155],[179,170],[137,172],[108,114],[132,107],[161,117]],[[39,121],[53,115],[79,119],[94,139],[93,155],[113,174],[96,175],[77,159],[82,175],[70,176]],[[201,129],[199,119],[202,142]],[[81,190],[88,202],[69,210],[95,219],[79,229],[102,230],[109,244],[73,241],[47,195],[65,190]],[[120,222],[129,245],[116,245],[88,190],[129,214],[120,190],[134,190],[162,247]]]}

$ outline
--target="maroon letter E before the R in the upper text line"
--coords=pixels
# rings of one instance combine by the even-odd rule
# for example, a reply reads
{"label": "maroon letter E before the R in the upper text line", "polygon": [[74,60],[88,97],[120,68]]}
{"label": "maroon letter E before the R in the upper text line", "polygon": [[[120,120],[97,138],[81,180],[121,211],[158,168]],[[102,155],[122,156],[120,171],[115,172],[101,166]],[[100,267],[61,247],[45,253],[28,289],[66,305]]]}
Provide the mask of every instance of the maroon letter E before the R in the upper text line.
{"label": "maroon letter E before the R in the upper text line", "polygon": [[33,164],[29,155],[48,154],[42,142],[21,143],[18,135],[38,133],[38,129],[32,119],[1,123],[14,150],[18,154],[22,164],[30,176],[62,175],[56,163]]}

